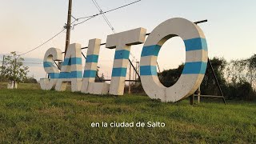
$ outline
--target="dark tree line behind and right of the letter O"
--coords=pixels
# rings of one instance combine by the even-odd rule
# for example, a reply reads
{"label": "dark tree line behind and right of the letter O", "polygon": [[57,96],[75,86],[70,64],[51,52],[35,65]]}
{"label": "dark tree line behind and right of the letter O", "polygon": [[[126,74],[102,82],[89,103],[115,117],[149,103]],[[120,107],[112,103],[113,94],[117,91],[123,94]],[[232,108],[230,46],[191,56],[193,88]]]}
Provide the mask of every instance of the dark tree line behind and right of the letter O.
{"label": "dark tree line behind and right of the letter O", "polygon": [[[218,79],[222,93],[228,99],[256,99],[256,54],[246,59],[227,62],[225,58],[210,59],[214,73]],[[164,86],[172,86],[182,74],[184,64],[177,69],[163,70],[158,78]],[[205,77],[202,80],[201,92],[206,95],[220,95],[214,74],[207,65]]]}

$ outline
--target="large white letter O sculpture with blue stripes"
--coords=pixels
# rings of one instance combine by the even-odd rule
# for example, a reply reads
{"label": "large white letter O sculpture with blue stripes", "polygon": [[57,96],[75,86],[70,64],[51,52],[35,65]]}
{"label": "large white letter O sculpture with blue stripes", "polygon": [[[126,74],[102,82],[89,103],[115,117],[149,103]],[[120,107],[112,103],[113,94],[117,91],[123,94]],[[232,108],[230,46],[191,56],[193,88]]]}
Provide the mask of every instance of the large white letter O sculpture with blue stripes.
{"label": "large white letter O sculpture with blue stripes", "polygon": [[[158,79],[157,58],[161,46],[175,36],[181,37],[185,43],[186,63],[178,81],[166,87]],[[194,94],[202,82],[208,60],[206,38],[193,22],[184,18],[170,18],[148,36],[141,57],[140,75],[146,94],[162,102],[177,102]]]}

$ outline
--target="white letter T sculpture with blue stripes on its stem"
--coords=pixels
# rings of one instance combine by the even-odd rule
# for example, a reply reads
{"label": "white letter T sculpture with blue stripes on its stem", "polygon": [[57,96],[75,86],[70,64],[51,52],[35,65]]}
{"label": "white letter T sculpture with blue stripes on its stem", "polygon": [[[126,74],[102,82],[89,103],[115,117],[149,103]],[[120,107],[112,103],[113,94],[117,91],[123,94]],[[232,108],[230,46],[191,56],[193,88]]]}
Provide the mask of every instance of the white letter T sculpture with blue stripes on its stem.
{"label": "white letter T sculpture with blue stripes on its stem", "polygon": [[128,30],[118,34],[107,36],[106,47],[115,50],[112,78],[110,82],[110,94],[122,95],[128,59],[130,56],[130,46],[143,43],[146,37],[146,29],[138,28]]}

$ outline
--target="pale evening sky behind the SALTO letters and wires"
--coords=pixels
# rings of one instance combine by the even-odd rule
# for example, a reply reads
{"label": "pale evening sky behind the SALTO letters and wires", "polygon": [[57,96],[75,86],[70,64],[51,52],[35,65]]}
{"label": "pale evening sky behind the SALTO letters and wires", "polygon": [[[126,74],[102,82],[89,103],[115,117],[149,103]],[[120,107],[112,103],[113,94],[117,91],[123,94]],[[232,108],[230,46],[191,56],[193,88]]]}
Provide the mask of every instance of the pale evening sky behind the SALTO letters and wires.
{"label": "pale evening sky behind the SALTO letters and wires", "polygon": [[[97,0],[103,11],[134,2],[134,0]],[[205,0],[142,0],[131,6],[107,13],[116,32],[146,28],[150,33],[161,22],[169,18],[186,18],[191,22],[207,19],[199,24],[206,35],[209,57],[224,57],[226,60],[249,58],[256,54],[256,1],[205,1]],[[68,0],[1,0],[0,5],[0,58],[3,54],[17,51],[18,54],[34,49],[42,42],[57,34],[66,23]],[[72,15],[81,18],[98,14],[94,3],[73,1]],[[73,19],[74,20],[74,19]],[[82,22],[82,20],[78,21]],[[74,22],[76,23],[76,22]],[[113,34],[102,16],[90,19],[71,30],[70,43],[87,46],[90,39],[102,39]],[[65,31],[46,45],[28,54],[25,65],[30,66],[30,76],[45,78],[42,59],[50,47],[65,50]],[[140,60],[143,45],[132,46],[130,59]],[[82,50],[86,54],[86,50]],[[160,70],[177,68],[185,62],[185,46],[181,38],[171,38],[160,50],[158,64]],[[114,50],[101,47],[99,55],[99,74],[110,78],[114,60]],[[31,62],[34,62],[32,64]]]}

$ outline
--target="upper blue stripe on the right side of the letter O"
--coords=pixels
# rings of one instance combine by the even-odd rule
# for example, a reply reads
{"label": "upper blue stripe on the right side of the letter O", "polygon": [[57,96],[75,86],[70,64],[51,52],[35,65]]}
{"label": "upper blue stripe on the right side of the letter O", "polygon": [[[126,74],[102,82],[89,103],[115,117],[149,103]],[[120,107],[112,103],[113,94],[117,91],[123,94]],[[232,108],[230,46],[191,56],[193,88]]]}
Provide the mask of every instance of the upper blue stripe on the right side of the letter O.
{"label": "upper blue stripe on the right side of the letter O", "polygon": [[186,51],[190,50],[206,50],[207,51],[207,43],[206,38],[192,38],[184,40]]}

